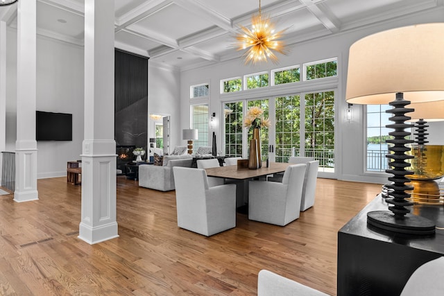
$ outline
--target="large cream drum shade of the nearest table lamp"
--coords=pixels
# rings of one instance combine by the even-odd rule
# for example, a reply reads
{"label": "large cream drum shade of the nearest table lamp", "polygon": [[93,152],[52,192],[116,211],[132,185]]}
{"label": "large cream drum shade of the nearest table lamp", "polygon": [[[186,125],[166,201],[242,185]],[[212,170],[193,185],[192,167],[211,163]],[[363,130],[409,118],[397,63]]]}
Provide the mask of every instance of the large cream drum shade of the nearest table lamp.
{"label": "large cream drum shade of the nearest table lamp", "polygon": [[411,103],[444,100],[444,23],[376,33],[350,46],[348,103],[386,104],[396,93]]}

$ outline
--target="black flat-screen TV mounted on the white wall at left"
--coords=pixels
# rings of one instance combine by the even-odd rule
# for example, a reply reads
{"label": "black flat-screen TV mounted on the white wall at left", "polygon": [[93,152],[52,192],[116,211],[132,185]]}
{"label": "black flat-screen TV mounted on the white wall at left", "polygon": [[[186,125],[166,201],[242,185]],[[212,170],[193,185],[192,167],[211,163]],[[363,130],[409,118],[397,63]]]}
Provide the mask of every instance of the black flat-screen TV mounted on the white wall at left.
{"label": "black flat-screen TV mounted on the white wall at left", "polygon": [[37,141],[72,141],[72,114],[35,112]]}

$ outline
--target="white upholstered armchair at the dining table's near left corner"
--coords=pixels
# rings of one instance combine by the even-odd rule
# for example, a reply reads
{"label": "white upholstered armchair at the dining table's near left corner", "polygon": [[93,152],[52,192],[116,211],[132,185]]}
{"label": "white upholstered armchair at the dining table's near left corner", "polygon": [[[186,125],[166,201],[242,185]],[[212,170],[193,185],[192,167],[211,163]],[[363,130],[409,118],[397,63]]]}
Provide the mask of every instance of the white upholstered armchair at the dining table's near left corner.
{"label": "white upholstered armchair at the dining table's near left corner", "polygon": [[210,187],[203,168],[174,167],[178,227],[204,236],[236,227],[236,185]]}

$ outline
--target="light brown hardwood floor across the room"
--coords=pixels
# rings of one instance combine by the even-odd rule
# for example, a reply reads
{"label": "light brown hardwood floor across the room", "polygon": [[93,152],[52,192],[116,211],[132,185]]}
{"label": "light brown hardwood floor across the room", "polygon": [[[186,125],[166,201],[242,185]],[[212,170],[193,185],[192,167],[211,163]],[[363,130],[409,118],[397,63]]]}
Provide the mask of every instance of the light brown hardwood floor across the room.
{"label": "light brown hardwood floor across the room", "polygon": [[117,177],[119,238],[77,238],[80,186],[38,180],[40,200],[0,195],[1,295],[256,295],[268,269],[336,295],[337,232],[378,184],[318,179],[316,203],[285,227],[248,220],[200,236],[180,229],[175,191]]}

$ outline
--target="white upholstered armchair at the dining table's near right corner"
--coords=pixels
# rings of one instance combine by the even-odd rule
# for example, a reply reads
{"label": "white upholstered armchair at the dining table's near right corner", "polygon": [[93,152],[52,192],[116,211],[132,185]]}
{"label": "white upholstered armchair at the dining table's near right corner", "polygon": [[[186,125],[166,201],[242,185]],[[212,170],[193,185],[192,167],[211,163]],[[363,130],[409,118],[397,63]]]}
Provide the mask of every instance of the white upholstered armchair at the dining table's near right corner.
{"label": "white upholstered armchair at the dining table's near right corner", "polygon": [[248,219],[284,226],[299,218],[305,168],[305,164],[289,166],[282,183],[250,181]]}

